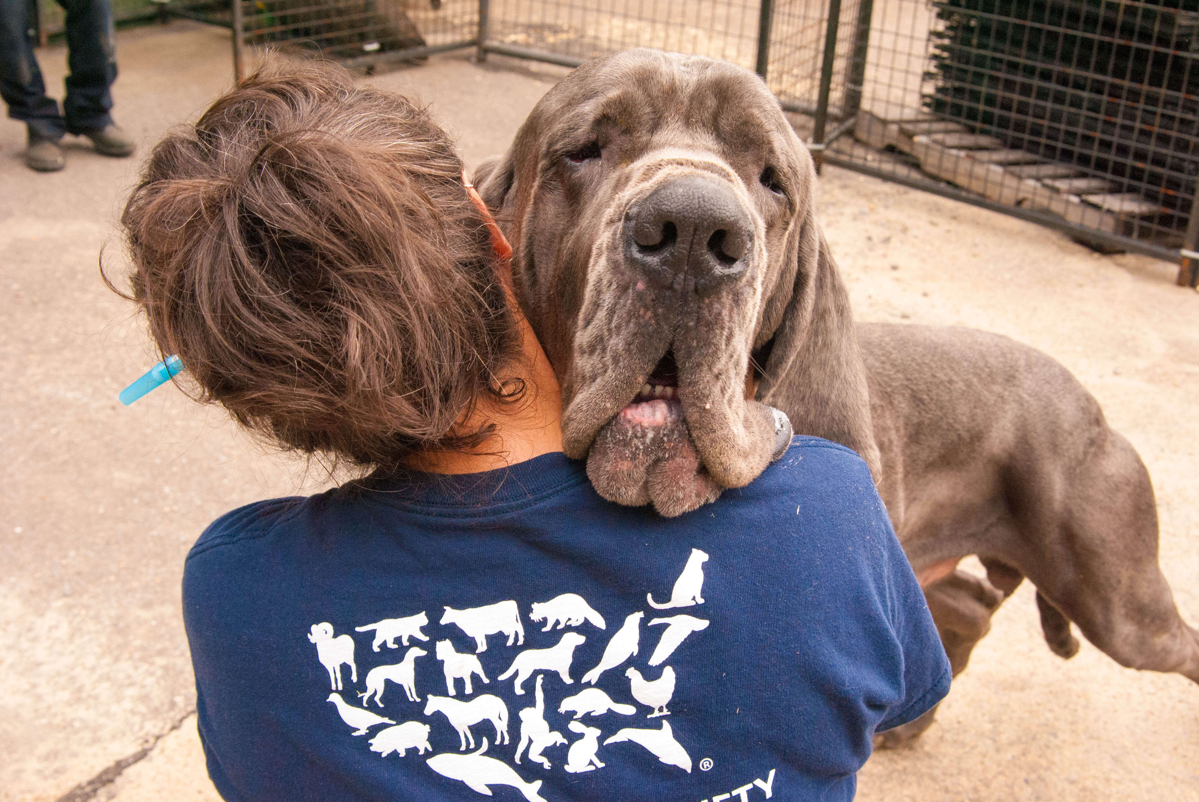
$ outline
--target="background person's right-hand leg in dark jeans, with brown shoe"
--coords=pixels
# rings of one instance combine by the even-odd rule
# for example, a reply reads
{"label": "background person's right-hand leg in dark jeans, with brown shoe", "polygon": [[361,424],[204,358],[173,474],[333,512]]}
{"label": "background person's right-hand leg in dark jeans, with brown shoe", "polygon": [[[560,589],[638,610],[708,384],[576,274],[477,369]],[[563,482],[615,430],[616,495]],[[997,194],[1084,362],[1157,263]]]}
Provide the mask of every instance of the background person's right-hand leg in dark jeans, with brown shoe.
{"label": "background person's right-hand leg in dark jeans, with brown shoe", "polygon": [[[0,0],[11,1],[11,0]],[[62,103],[68,133],[89,137],[108,156],[128,156],[133,141],[109,111],[116,80],[116,31],[109,0],[58,0],[66,11],[67,98]]]}

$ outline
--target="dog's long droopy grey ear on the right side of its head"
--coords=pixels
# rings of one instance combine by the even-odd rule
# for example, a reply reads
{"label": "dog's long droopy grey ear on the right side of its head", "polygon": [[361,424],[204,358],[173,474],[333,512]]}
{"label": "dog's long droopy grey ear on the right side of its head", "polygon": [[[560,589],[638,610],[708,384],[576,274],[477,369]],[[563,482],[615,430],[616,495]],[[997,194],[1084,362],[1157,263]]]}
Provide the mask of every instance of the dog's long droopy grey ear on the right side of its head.
{"label": "dog's long droopy grey ear on the right side of its head", "polygon": [[788,267],[795,272],[779,277],[764,309],[763,322],[770,326],[773,318],[778,327],[758,398],[783,410],[795,434],[856,451],[878,481],[879,448],[849,293],[811,205],[793,236]]}

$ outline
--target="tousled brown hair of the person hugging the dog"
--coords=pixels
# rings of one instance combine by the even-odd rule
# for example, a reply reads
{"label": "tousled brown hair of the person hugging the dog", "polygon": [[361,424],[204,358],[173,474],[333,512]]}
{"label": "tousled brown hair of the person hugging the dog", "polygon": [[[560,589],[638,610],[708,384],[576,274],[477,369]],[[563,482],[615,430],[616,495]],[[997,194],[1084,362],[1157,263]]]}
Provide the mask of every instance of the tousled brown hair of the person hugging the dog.
{"label": "tousled brown hair of the person hugging the dog", "polygon": [[106,282],[198,400],[284,448],[368,468],[476,448],[493,427],[456,423],[519,396],[496,381],[519,339],[462,169],[404,97],[260,71],[153,149],[121,216],[129,290]]}

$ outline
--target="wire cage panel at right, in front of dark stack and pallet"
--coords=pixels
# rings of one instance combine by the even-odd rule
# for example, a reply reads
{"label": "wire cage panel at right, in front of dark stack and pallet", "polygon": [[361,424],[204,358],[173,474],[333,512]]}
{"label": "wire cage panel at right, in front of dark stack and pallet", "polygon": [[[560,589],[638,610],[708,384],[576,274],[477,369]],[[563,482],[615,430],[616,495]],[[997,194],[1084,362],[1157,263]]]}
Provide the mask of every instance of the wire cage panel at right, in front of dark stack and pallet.
{"label": "wire cage panel at right, in front of dark stack and pallet", "polygon": [[1199,176],[1199,13],[1183,2],[881,0],[857,143],[829,158],[1177,259],[1195,248]]}

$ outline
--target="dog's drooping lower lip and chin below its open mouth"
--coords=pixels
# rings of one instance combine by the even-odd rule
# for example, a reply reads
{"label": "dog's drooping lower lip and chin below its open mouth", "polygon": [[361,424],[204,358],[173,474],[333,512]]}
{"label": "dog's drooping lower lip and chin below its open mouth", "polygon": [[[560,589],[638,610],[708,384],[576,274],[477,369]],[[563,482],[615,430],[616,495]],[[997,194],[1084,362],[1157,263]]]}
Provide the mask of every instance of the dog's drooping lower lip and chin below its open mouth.
{"label": "dog's drooping lower lip and chin below its open mouth", "polygon": [[588,477],[609,501],[653,502],[667,518],[715,501],[722,488],[704,470],[677,400],[634,402],[596,434]]}

